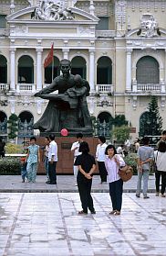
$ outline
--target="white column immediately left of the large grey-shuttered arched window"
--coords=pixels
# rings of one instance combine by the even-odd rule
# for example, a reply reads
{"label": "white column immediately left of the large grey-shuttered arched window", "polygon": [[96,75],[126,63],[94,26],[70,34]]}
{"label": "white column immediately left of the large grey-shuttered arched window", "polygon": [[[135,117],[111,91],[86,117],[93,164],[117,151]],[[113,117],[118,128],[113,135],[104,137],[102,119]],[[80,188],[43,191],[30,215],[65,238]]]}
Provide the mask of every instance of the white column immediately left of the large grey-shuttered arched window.
{"label": "white column immediately left of the large grey-shuttered arched window", "polygon": [[131,53],[132,50],[126,50],[126,91],[131,91]]}

